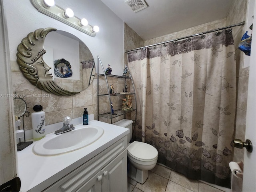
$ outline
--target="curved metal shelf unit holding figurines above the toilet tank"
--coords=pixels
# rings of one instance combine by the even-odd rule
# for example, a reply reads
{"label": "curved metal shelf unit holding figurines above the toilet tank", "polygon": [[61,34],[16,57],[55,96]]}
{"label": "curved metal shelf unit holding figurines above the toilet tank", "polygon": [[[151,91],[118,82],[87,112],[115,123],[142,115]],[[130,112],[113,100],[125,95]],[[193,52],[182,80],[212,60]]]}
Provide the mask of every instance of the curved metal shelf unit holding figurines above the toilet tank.
{"label": "curved metal shelf unit holding figurines above the toilet tank", "polygon": [[[128,71],[128,74],[129,76],[118,76],[118,75],[110,75],[110,74],[100,74],[99,73],[99,69],[100,67],[102,68],[102,71],[104,72],[104,68],[103,68],[103,65],[102,65],[102,62],[98,56],[98,68],[97,68],[97,97],[98,97],[98,120],[99,120],[99,117],[104,117],[104,118],[108,118],[108,119],[111,119],[111,124],[112,124],[112,119],[113,118],[116,118],[118,116],[121,116],[121,115],[124,115],[124,118],[126,118],[126,114],[128,113],[131,113],[133,111],[136,111],[137,109],[137,99],[136,99],[136,93],[135,93],[135,87],[134,87],[134,82],[132,80],[132,76],[130,74],[130,71],[128,69],[127,66],[125,66],[127,68],[127,71]],[[106,81],[106,86],[107,86],[107,91],[108,91],[108,94],[100,94],[99,93],[99,77],[100,76],[104,76],[105,78],[105,81]],[[133,110],[128,110],[128,111],[124,111],[122,109],[118,109],[118,110],[114,110],[114,113],[116,113],[116,115],[112,114],[112,110],[111,110],[111,97],[115,97],[115,96],[125,96],[126,94],[110,94],[110,88],[109,88],[109,84],[108,84],[108,77],[112,77],[112,78],[122,78],[124,79],[124,85],[126,84],[126,80],[130,80],[130,82],[132,82],[132,88],[134,90],[134,92],[129,92],[128,94],[129,95],[134,95],[134,99],[135,99],[135,109]],[[102,96],[102,97],[108,97],[108,100],[109,100],[109,112],[105,112],[105,113],[102,113],[100,114],[99,113],[99,108],[100,108],[100,102],[99,102],[99,97]],[[134,106],[133,105],[133,106]],[[134,126],[135,126],[135,122],[136,122],[136,118],[137,118],[137,113],[135,114],[135,119],[133,119],[134,121]]]}

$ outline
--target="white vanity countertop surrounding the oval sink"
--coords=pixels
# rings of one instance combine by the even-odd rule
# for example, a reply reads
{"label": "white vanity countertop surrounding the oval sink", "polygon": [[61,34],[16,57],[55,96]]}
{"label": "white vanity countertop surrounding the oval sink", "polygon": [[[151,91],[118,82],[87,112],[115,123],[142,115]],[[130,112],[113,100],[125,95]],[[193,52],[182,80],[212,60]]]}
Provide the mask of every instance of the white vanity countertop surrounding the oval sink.
{"label": "white vanity countertop surrounding the oval sink", "polygon": [[[44,190],[129,133],[127,128],[96,120],[89,121],[89,125],[102,127],[104,134],[84,148],[55,156],[38,156],[32,152],[32,148],[36,143],[34,141],[33,144],[24,150],[18,151],[18,177],[21,180],[20,191]],[[74,127],[76,126],[74,125]]]}

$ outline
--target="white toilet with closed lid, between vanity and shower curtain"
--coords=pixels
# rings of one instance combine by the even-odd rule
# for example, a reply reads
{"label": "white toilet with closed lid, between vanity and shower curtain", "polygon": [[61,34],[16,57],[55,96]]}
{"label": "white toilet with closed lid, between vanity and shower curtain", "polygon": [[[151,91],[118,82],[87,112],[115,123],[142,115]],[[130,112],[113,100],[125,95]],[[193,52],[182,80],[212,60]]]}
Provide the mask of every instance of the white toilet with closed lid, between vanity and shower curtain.
{"label": "white toilet with closed lid, between vanity and shower curtain", "polygon": [[127,139],[127,156],[130,161],[128,176],[143,184],[148,178],[148,170],[156,166],[158,151],[152,145],[144,142],[129,143],[132,139],[132,120],[122,119],[113,124],[130,129]]}

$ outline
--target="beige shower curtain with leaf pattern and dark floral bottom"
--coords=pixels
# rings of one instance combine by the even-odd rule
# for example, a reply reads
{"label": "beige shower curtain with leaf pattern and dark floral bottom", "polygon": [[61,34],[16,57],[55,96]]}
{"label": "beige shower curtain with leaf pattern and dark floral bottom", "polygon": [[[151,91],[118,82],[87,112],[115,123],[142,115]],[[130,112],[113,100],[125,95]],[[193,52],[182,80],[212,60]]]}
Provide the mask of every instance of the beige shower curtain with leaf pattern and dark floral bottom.
{"label": "beige shower curtain with leaf pattern and dark floral bottom", "polygon": [[137,95],[133,136],[187,178],[230,188],[236,104],[232,33],[130,51]]}

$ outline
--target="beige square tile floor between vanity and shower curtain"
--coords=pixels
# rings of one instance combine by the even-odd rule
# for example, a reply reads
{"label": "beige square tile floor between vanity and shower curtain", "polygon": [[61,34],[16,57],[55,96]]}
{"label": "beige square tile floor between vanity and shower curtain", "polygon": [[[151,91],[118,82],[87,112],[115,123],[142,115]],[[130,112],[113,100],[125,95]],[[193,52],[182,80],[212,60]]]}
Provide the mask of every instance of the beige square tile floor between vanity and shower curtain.
{"label": "beige square tile floor between vanity and shower curtain", "polygon": [[148,179],[140,184],[128,178],[128,192],[222,192],[198,180],[187,179],[182,174],[156,165],[148,172]]}

